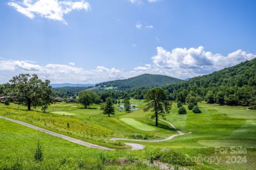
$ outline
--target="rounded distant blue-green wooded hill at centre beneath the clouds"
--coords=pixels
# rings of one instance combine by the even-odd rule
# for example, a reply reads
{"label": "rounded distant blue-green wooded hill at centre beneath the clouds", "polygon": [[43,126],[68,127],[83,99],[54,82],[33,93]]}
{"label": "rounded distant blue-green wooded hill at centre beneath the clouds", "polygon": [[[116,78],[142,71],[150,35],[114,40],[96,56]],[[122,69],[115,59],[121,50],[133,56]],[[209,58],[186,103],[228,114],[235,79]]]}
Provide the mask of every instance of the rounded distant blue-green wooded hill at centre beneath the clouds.
{"label": "rounded distant blue-green wooded hill at centre beneath the clouds", "polygon": [[182,80],[179,78],[173,78],[171,76],[144,74],[128,78],[125,80],[113,80],[108,82],[102,82],[100,84],[96,84],[96,86],[106,88],[112,86],[117,89],[128,89],[163,86],[165,84],[175,84],[178,82],[182,82]]}

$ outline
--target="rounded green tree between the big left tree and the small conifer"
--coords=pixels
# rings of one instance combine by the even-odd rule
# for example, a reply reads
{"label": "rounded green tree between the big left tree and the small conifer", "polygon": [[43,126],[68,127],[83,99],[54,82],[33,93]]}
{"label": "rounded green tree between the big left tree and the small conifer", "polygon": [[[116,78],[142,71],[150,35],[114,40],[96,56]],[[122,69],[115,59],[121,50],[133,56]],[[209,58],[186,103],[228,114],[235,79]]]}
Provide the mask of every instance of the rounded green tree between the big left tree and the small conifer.
{"label": "rounded green tree between the big left tree and the small conifer", "polygon": [[81,103],[85,109],[87,109],[87,106],[95,103],[97,98],[97,95],[95,92],[91,90],[84,90],[82,92],[79,92],[79,103]]}

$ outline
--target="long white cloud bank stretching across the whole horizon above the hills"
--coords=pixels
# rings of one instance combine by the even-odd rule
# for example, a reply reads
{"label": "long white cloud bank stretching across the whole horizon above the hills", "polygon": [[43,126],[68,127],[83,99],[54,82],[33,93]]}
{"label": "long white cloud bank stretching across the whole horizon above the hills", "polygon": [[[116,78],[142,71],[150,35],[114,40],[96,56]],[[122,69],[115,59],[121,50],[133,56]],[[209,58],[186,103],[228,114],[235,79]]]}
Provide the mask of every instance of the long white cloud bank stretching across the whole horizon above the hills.
{"label": "long white cloud bank stretching across the whole horizon above the hills", "polygon": [[96,83],[130,78],[143,73],[190,78],[212,73],[253,58],[256,58],[256,54],[249,54],[242,50],[224,56],[205,52],[203,46],[189,49],[175,48],[170,51],[159,46],[156,48],[156,55],[152,57],[152,63],[138,65],[131,71],[121,71],[115,67],[107,68],[104,66],[85,70],[81,67],[75,67],[75,63],[37,65],[32,61],[0,58],[2,75],[0,76],[0,83],[8,82],[14,74],[18,75],[20,73],[35,73],[40,78],[51,80],[52,83]]}

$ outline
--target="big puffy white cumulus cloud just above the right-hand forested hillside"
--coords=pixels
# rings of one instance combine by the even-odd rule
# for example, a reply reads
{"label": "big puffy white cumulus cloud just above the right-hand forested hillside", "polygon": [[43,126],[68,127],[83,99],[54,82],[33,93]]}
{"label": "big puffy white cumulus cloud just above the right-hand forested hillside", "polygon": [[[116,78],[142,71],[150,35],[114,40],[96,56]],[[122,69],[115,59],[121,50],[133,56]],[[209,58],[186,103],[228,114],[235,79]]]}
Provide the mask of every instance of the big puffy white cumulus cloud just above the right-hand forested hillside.
{"label": "big puffy white cumulus cloud just above the right-hand forested hillside", "polygon": [[255,54],[247,54],[237,50],[223,56],[205,52],[203,46],[198,48],[175,48],[171,51],[163,47],[156,48],[157,55],[152,57],[153,69],[165,75],[186,78],[212,73],[225,67],[237,65],[242,61],[256,58]]}

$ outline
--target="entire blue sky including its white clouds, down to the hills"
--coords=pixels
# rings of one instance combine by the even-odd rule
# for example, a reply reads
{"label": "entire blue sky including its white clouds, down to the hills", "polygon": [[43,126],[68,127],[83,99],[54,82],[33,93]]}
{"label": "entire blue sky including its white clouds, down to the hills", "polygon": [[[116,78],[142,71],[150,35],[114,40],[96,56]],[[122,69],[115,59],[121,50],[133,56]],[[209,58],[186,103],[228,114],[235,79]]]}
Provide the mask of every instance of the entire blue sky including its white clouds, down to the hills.
{"label": "entire blue sky including its white clouds, down to the hills", "polygon": [[204,75],[256,57],[254,0],[6,0],[0,83]]}

